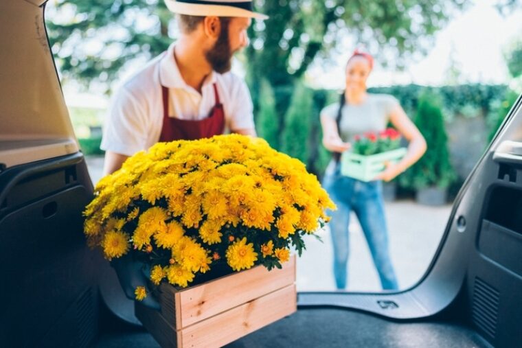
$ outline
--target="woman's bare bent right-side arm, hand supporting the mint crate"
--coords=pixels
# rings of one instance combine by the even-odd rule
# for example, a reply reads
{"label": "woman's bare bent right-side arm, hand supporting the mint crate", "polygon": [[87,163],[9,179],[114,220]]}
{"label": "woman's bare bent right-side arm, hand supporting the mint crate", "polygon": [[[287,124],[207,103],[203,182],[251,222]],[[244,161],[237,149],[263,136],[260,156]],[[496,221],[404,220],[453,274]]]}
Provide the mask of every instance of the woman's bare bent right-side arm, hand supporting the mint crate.
{"label": "woman's bare bent right-side arm, hand supporting the mint crate", "polygon": [[400,162],[389,165],[384,172],[376,177],[376,180],[390,181],[395,178],[398,174],[407,170],[413,163],[416,163],[427,149],[426,140],[400,105],[397,105],[391,111],[389,121],[409,142],[408,152]]}

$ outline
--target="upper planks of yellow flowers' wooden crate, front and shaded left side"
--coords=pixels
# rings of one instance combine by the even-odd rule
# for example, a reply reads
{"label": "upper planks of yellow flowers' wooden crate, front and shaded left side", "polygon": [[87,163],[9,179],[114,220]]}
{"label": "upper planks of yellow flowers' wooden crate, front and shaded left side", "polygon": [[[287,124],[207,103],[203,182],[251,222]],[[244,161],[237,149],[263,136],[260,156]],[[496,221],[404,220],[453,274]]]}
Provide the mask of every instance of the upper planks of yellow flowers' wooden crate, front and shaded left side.
{"label": "upper planks of yellow flowers' wooden crate, front and shaded left side", "polygon": [[188,327],[295,283],[295,255],[282,266],[271,271],[256,266],[181,291],[164,284],[161,314],[176,329]]}

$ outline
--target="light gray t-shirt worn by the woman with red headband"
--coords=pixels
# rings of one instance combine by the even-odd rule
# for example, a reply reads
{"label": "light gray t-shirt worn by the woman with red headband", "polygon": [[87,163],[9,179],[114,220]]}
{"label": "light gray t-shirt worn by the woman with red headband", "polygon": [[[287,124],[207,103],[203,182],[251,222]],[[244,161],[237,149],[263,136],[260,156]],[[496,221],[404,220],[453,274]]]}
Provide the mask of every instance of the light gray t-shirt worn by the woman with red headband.
{"label": "light gray t-shirt worn by the woman with red headband", "polygon": [[[387,94],[368,93],[362,104],[345,104],[341,111],[339,135],[345,142],[354,140],[355,135],[385,130],[391,111],[398,105],[395,97]],[[326,106],[321,115],[337,118],[339,103]]]}

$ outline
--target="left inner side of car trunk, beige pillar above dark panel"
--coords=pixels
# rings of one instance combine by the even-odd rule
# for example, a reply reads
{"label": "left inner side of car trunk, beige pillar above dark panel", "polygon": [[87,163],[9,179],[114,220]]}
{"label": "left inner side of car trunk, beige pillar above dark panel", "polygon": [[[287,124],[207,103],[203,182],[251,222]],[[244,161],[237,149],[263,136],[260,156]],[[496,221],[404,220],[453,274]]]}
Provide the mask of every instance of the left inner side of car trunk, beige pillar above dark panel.
{"label": "left inner side of car trunk, beige pillar above dark panel", "polygon": [[89,347],[100,257],[85,244],[82,209],[93,187],[41,5],[0,2],[0,346]]}

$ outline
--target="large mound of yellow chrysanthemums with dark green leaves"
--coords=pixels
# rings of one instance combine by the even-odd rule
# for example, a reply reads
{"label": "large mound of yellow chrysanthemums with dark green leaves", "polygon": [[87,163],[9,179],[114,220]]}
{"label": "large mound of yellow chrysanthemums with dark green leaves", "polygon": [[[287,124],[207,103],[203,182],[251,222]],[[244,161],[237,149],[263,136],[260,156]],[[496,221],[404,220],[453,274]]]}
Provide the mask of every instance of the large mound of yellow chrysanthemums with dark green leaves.
{"label": "large mound of yellow chrysanthemums with dark green leaves", "polygon": [[132,156],[96,185],[84,231],[107,259],[130,254],[155,285],[185,287],[216,265],[280,268],[326,209],[334,204],[303,163],[262,139],[220,135]]}

